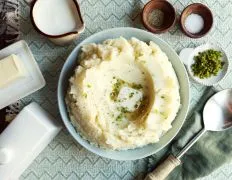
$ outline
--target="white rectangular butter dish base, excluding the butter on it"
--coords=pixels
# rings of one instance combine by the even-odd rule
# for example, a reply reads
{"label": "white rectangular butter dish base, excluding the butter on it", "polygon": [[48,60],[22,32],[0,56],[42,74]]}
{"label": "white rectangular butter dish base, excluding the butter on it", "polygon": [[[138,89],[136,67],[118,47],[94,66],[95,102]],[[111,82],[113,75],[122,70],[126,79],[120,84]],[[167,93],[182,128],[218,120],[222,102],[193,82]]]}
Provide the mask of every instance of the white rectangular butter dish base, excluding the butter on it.
{"label": "white rectangular butter dish base, excluding the butter on it", "polygon": [[31,50],[23,40],[0,51],[0,59],[15,54],[22,60],[26,75],[7,87],[0,88],[0,109],[22,99],[45,86],[44,77]]}

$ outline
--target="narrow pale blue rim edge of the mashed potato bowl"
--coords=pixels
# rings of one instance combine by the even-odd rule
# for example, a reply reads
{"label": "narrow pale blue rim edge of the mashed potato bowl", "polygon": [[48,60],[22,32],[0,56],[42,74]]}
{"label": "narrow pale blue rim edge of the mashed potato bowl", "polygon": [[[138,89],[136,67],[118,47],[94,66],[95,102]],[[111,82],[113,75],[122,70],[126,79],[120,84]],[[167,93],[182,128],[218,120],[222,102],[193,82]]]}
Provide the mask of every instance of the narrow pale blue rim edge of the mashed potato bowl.
{"label": "narrow pale blue rim edge of the mashed potato bowl", "polygon": [[[165,45],[173,54],[175,54],[176,58],[179,59],[179,62],[180,62],[180,65],[182,66],[182,71],[184,72],[183,76],[185,77],[185,81],[186,81],[186,84],[185,84],[185,89],[186,89],[186,94],[185,94],[185,97],[187,99],[186,101],[186,104],[185,104],[185,107],[184,107],[184,112],[183,112],[183,118],[182,118],[182,121],[181,121],[181,124],[179,125],[179,127],[176,129],[175,133],[173,134],[173,136],[167,141],[165,142],[161,147],[157,148],[157,149],[153,149],[152,151],[149,151],[147,153],[142,153],[142,155],[138,155],[136,157],[127,157],[127,158],[122,158],[120,156],[117,156],[116,157],[111,157],[109,156],[108,154],[105,154],[105,152],[99,152],[99,151],[105,151],[104,149],[101,149],[99,147],[96,147],[92,144],[90,144],[89,142],[87,142],[86,140],[83,139],[83,137],[81,137],[78,133],[76,132],[72,132],[71,131],[71,128],[74,128],[73,125],[71,125],[71,122],[69,120],[69,117],[65,117],[65,115],[63,115],[63,113],[61,112],[62,109],[62,104],[65,104],[65,102],[63,102],[61,100],[61,94],[62,94],[62,91],[61,91],[61,88],[62,88],[62,82],[61,82],[61,78],[63,78],[63,74],[64,74],[64,71],[66,69],[66,66],[69,62],[69,59],[71,58],[71,56],[78,50],[81,48],[81,46],[83,44],[86,43],[86,41],[88,41],[89,39],[91,38],[94,38],[95,36],[99,36],[99,35],[104,35],[106,33],[112,33],[112,31],[133,31],[135,33],[146,33],[147,35],[149,36],[153,36],[153,38],[155,38],[157,41],[160,41],[160,43],[162,43],[163,45]],[[133,37],[133,36],[131,36]],[[185,122],[185,119],[187,117],[187,113],[188,113],[188,110],[189,110],[189,102],[190,102],[190,84],[189,84],[189,79],[188,79],[188,75],[187,75],[187,71],[183,65],[183,63],[181,62],[179,56],[177,55],[176,51],[171,47],[169,46],[164,40],[158,38],[157,36],[155,36],[154,34],[150,33],[150,32],[147,32],[145,30],[142,30],[142,29],[137,29],[137,28],[131,28],[131,27],[119,27],[119,28],[110,28],[110,29],[106,29],[106,30],[103,30],[103,31],[100,31],[100,32],[97,32],[89,37],[87,37],[86,39],[84,39],[82,42],[80,42],[73,50],[72,52],[69,54],[69,56],[67,57],[63,67],[62,67],[62,70],[61,70],[61,73],[60,73],[60,76],[59,76],[59,81],[58,81],[58,90],[57,90],[57,96],[58,96],[58,107],[59,107],[59,112],[60,112],[60,115],[61,115],[61,119],[65,125],[65,127],[67,128],[68,132],[72,135],[72,137],[76,140],[76,142],[78,142],[80,145],[82,145],[83,147],[85,147],[87,150],[89,150],[90,152],[94,153],[94,154],[97,154],[99,156],[102,156],[102,157],[105,157],[105,158],[109,158],[109,159],[113,159],[113,160],[137,160],[137,159],[142,159],[142,158],[145,158],[145,157],[148,157],[158,151],[160,151],[161,149],[163,149],[166,145],[168,145],[174,137],[176,137],[177,133],[180,131],[181,127],[183,126],[183,123]],[[180,87],[181,89],[181,87]],[[65,104],[66,106],[66,104]],[[67,110],[66,110],[67,111]],[[180,112],[180,110],[179,110]],[[174,120],[175,121],[175,120]],[[72,126],[72,127],[71,127]],[[169,130],[171,131],[171,129]],[[168,132],[169,132],[168,131]],[[168,133],[167,132],[167,133]],[[166,133],[166,134],[167,134]],[[160,141],[159,141],[160,142]],[[159,143],[158,142],[158,143]],[[88,144],[88,145],[87,145]],[[156,144],[156,143],[155,143]],[[150,145],[147,145],[147,146],[154,146],[155,144],[150,144]],[[146,146],[143,146],[143,147],[140,147],[140,148],[136,148],[136,149],[143,149],[145,148]],[[94,150],[94,149],[97,149],[97,150]],[[135,149],[129,149],[129,150],[125,150],[125,151],[130,151],[130,150],[135,150]],[[114,151],[115,152],[115,151]],[[120,151],[117,151],[117,152],[120,152]]]}

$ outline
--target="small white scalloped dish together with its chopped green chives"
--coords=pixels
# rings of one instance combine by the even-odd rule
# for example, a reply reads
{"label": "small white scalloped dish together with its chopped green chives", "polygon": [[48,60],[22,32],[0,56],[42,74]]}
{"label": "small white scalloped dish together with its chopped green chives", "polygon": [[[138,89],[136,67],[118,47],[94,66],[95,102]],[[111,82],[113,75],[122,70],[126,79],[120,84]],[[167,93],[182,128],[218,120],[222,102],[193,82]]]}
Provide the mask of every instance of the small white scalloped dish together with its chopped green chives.
{"label": "small white scalloped dish together with its chopped green chives", "polygon": [[195,49],[183,49],[180,58],[187,66],[190,77],[205,86],[217,85],[227,74],[229,61],[217,45],[203,44]]}

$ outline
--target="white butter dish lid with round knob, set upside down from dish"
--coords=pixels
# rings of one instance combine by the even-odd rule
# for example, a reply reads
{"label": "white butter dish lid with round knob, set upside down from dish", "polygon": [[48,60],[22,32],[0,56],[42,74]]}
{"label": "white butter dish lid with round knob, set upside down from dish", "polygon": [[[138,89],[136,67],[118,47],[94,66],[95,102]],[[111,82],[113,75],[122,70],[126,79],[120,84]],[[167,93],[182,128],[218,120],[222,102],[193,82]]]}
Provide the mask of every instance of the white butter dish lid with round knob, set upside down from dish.
{"label": "white butter dish lid with round knob, set upside down from dish", "polygon": [[0,134],[0,179],[18,179],[60,130],[38,104],[26,106]]}

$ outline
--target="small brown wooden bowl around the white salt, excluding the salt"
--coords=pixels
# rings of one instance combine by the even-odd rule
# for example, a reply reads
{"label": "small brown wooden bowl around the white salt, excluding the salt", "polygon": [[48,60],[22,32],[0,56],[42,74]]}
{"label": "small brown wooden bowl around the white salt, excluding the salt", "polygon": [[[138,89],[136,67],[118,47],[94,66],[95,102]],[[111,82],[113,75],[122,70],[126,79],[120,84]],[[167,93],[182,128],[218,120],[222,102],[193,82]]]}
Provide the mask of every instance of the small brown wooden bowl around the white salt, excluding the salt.
{"label": "small brown wooden bowl around the white salt, excluding the salt", "polygon": [[[204,27],[203,29],[196,34],[190,33],[186,28],[185,28],[185,20],[190,14],[198,14],[200,15],[203,20],[204,20]],[[213,14],[211,10],[205,6],[204,4],[201,3],[194,3],[189,6],[187,6],[183,12],[181,13],[180,16],[180,25],[181,25],[181,30],[183,31],[184,34],[191,38],[201,38],[205,36],[210,29],[213,26]]]}

